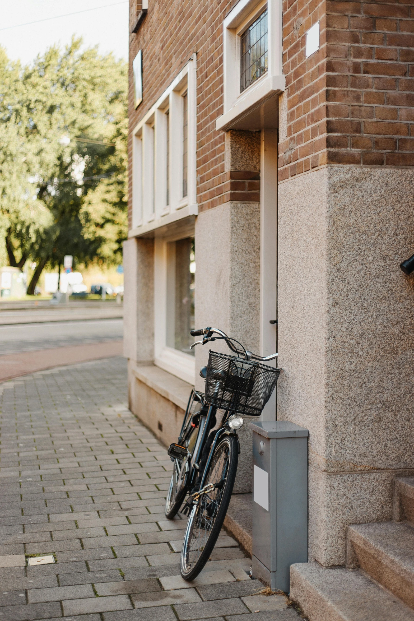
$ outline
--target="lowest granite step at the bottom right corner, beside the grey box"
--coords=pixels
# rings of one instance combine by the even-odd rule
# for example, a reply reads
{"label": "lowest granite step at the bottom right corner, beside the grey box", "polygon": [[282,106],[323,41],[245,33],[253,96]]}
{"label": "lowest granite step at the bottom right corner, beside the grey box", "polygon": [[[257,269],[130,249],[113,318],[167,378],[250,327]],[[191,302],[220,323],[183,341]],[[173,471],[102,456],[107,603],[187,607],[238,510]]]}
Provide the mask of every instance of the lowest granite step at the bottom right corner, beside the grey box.
{"label": "lowest granite step at the bottom right corner, beside the grey box", "polygon": [[414,621],[414,610],[361,571],[290,566],[290,599],[310,621]]}

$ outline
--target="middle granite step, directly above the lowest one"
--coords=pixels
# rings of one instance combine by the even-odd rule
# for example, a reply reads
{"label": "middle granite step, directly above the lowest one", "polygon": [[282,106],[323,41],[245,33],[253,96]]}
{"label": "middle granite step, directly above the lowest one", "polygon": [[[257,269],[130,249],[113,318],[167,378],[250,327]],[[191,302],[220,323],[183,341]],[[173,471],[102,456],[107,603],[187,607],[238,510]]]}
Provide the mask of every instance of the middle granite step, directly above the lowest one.
{"label": "middle granite step, directly above the lowest one", "polygon": [[414,529],[407,524],[377,522],[349,526],[347,566],[359,566],[414,608]]}

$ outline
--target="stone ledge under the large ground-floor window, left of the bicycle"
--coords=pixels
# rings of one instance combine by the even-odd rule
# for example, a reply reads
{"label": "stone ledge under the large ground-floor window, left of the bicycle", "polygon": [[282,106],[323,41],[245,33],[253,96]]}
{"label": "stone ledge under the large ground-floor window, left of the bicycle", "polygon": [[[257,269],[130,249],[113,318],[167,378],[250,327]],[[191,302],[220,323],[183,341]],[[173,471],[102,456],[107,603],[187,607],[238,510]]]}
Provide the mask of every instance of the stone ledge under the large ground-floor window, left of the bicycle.
{"label": "stone ledge under the large ground-floor window, left of the bicycle", "polygon": [[140,382],[146,384],[161,397],[172,401],[176,406],[186,410],[191,384],[176,378],[175,375],[158,368],[158,366],[135,366],[132,373]]}

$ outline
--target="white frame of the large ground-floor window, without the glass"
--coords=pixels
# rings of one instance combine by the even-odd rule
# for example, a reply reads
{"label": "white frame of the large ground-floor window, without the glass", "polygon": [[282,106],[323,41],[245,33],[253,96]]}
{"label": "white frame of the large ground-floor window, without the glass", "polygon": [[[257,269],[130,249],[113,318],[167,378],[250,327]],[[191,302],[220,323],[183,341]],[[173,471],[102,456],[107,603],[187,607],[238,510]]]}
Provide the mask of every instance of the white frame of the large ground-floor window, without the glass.
{"label": "white frame of the large ground-floor window, without the glass", "polygon": [[167,345],[167,245],[185,237],[194,237],[194,223],[183,224],[174,235],[155,237],[154,240],[154,363],[194,386],[196,377],[194,356]]}

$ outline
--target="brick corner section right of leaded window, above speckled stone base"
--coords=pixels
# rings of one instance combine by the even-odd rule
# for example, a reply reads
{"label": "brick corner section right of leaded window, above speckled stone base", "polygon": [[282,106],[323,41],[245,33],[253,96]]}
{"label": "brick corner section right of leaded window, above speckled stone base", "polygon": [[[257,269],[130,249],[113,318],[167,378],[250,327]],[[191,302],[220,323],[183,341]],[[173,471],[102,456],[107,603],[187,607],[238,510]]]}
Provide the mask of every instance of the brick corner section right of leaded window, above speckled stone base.
{"label": "brick corner section right of leaded window, above speckled stone base", "polygon": [[[325,163],[414,165],[414,5],[284,0],[279,179]],[[305,33],[320,19],[320,50]],[[413,136],[413,137],[412,137]]]}

